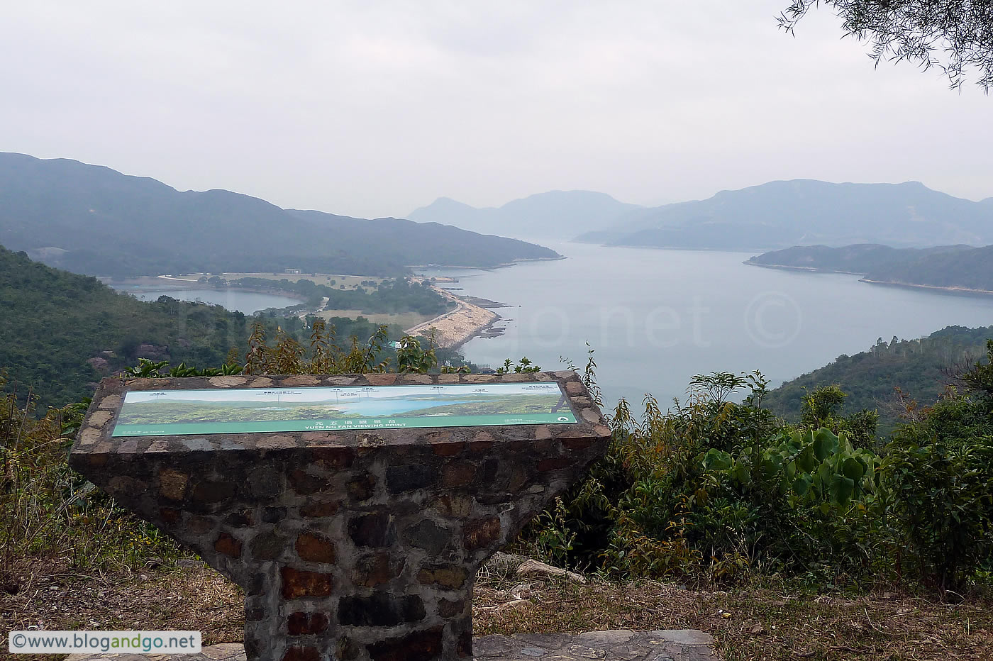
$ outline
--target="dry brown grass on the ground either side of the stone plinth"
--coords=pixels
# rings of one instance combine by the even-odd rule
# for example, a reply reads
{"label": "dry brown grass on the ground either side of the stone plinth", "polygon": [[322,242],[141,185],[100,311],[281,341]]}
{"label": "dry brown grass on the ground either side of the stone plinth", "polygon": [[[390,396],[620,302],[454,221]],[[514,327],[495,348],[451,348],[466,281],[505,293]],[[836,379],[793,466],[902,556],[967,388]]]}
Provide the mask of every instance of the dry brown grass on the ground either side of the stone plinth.
{"label": "dry brown grass on the ground either side of the stone plinth", "polygon": [[[200,629],[205,644],[241,640],[240,591],[206,567],[94,573],[31,561],[3,584],[16,592],[0,595],[4,637],[11,629],[45,626]],[[714,634],[725,661],[993,659],[993,603],[982,599],[948,605],[910,595],[706,592],[650,582],[579,586],[483,572],[474,614],[478,635],[701,629]],[[6,640],[0,646],[5,651]]]}

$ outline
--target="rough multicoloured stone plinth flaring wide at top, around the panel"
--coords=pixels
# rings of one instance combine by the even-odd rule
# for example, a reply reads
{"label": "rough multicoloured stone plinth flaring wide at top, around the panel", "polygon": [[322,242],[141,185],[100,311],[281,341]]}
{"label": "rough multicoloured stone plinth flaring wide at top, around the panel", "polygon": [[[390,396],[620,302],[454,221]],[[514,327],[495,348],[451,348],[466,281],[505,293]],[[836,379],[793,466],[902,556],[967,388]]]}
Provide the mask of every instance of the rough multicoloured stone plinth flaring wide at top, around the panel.
{"label": "rough multicoloured stone plinth flaring wide at top, around the panel", "polygon": [[[128,391],[500,382],[577,422],[111,436]],[[71,464],[244,588],[249,659],[429,661],[472,657],[477,568],[609,437],[571,371],[104,379]]]}

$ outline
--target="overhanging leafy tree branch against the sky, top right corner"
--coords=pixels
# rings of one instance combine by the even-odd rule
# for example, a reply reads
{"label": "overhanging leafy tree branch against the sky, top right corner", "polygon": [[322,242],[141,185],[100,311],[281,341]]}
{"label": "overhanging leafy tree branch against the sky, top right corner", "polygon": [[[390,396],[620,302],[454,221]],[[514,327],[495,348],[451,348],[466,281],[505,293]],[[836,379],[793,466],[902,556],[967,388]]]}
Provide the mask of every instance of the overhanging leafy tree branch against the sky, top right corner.
{"label": "overhanging leafy tree branch against the sky, top right corner", "polygon": [[977,84],[993,85],[993,4],[989,0],[793,0],[779,17],[792,34],[823,4],[841,17],[846,36],[869,42],[877,66],[884,60],[937,66],[959,87],[966,71]]}

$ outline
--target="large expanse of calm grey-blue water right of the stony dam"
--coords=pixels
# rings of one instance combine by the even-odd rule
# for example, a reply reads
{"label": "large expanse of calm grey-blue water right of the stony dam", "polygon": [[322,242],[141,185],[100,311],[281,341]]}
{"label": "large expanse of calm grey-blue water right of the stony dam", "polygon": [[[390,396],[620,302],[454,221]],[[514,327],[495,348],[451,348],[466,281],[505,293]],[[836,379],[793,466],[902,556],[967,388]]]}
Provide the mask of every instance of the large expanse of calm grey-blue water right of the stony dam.
{"label": "large expanse of calm grey-blue water right of the stony dam", "polygon": [[456,294],[512,307],[506,330],[463,345],[497,366],[526,355],[544,369],[585,364],[595,350],[606,404],[664,410],[694,374],[759,370],[773,385],[842,353],[947,326],[993,325],[993,297],[937,294],[858,282],[858,276],[747,266],[755,253],[545,243],[567,259],[493,271],[423,270],[459,279]]}

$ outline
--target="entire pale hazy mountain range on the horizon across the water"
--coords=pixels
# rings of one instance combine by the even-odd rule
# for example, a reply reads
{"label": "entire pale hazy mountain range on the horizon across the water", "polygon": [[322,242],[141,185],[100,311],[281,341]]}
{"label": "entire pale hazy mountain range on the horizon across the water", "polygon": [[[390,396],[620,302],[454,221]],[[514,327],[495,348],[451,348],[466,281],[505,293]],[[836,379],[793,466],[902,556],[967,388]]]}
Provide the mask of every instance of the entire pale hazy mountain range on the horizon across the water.
{"label": "entire pale hazy mountain range on the horizon across the water", "polygon": [[439,198],[408,217],[517,237],[660,248],[993,243],[993,198],[954,198],[920,182],[769,182],[650,207],[590,191],[553,191],[488,208]]}

